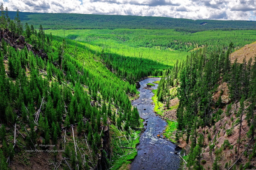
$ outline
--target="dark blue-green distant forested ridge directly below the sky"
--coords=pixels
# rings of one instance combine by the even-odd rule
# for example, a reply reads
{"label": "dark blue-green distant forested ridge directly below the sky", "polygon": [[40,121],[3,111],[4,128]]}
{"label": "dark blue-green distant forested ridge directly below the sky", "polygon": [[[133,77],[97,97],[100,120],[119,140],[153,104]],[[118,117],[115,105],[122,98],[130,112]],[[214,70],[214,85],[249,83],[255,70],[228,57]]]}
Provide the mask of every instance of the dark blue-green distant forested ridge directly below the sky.
{"label": "dark blue-green distant forested ridge directly below the sky", "polygon": [[[9,12],[14,18],[16,12]],[[255,21],[189,20],[152,16],[118,16],[94,14],[50,14],[20,12],[22,23],[45,29],[176,29],[178,31],[198,32],[203,30],[255,30]]]}

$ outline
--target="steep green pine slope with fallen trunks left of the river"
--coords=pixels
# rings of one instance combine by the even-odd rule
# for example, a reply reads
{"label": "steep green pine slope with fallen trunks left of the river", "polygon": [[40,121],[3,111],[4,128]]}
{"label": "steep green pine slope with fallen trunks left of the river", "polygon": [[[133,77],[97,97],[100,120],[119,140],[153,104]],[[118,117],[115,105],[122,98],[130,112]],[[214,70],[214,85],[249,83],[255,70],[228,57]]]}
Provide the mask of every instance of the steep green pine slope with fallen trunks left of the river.
{"label": "steep green pine slope with fallen trunks left of the river", "polygon": [[[0,22],[1,169],[106,169],[120,161],[126,150],[113,136],[139,133],[128,97],[136,95],[135,84],[110,72],[82,42],[46,35],[42,26],[25,24],[23,32],[19,12],[10,20],[1,6]],[[118,142],[134,147],[133,140]]]}

